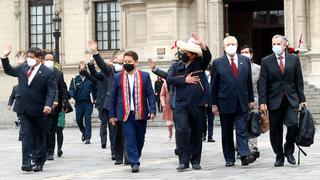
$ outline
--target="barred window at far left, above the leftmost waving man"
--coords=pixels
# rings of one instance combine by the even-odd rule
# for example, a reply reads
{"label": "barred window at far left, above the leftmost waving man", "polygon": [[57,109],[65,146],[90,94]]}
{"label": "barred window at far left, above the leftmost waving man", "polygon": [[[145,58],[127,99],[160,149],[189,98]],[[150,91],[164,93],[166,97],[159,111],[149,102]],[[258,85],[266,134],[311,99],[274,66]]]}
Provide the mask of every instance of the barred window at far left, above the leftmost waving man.
{"label": "barred window at far left, above the leftmost waving man", "polygon": [[29,46],[52,50],[53,0],[29,0]]}

